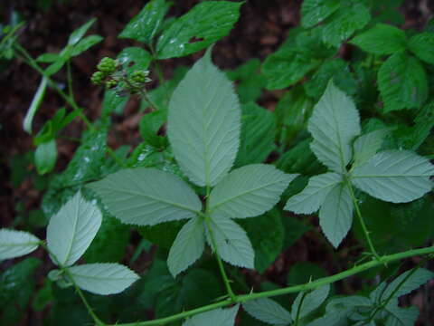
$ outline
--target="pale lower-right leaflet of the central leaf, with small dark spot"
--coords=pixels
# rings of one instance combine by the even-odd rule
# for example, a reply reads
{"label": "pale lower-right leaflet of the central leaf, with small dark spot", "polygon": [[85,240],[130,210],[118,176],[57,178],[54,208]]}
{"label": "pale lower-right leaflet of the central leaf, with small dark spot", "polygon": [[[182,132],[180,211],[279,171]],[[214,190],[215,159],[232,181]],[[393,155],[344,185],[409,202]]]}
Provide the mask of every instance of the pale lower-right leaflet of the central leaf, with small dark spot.
{"label": "pale lower-right leaflet of the central leaf, with small dark spot", "polygon": [[[217,252],[222,260],[235,266],[254,268],[255,253],[249,237],[240,225],[226,216],[212,216],[210,227]],[[206,240],[214,248],[208,229]]]}

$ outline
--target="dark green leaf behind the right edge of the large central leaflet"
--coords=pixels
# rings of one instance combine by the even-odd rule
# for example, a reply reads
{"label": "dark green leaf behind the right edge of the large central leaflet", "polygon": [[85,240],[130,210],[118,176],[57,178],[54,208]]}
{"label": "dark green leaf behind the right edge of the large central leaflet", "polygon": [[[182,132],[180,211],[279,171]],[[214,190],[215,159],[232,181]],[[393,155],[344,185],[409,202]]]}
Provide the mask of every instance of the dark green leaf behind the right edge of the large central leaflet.
{"label": "dark green leaf behind the right edge of the large central leaflet", "polygon": [[276,119],[273,112],[254,102],[242,105],[241,109],[241,140],[236,167],[262,163],[276,148]]}

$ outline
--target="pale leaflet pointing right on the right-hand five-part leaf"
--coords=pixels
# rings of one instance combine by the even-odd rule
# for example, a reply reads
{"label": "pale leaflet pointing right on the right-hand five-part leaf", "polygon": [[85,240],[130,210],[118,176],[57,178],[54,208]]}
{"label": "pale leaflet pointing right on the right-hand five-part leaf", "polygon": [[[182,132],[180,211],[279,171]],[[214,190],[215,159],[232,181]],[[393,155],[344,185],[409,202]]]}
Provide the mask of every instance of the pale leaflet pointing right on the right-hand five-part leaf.
{"label": "pale leaflet pointing right on the right-hand five-part leaf", "polygon": [[408,151],[382,151],[360,167],[351,179],[355,187],[392,203],[406,203],[422,197],[432,188],[429,177],[434,166],[429,159]]}

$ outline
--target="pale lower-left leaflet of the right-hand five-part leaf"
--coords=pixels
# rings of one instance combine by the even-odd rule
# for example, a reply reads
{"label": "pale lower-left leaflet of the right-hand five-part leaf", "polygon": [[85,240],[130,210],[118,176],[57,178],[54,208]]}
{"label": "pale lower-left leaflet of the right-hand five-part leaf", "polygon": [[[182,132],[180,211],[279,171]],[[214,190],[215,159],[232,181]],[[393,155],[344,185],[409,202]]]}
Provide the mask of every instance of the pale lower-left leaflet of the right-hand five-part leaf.
{"label": "pale lower-left leaflet of the right-hand five-part leaf", "polygon": [[342,176],[333,172],[311,177],[307,187],[296,196],[290,197],[284,209],[297,214],[314,213],[323,205],[328,193],[340,182]]}

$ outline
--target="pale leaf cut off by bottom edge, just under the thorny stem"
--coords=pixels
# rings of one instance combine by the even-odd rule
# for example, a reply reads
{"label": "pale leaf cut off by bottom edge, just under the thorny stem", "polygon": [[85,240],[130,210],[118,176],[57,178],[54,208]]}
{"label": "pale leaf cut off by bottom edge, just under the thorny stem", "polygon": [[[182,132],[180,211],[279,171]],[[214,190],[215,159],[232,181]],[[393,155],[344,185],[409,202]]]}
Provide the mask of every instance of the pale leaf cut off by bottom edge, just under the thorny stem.
{"label": "pale leaf cut off by bottom edge, just under the thorny stem", "polygon": [[211,312],[199,313],[185,321],[183,326],[209,326],[210,324],[233,326],[239,307],[237,304],[229,309],[215,309]]}

